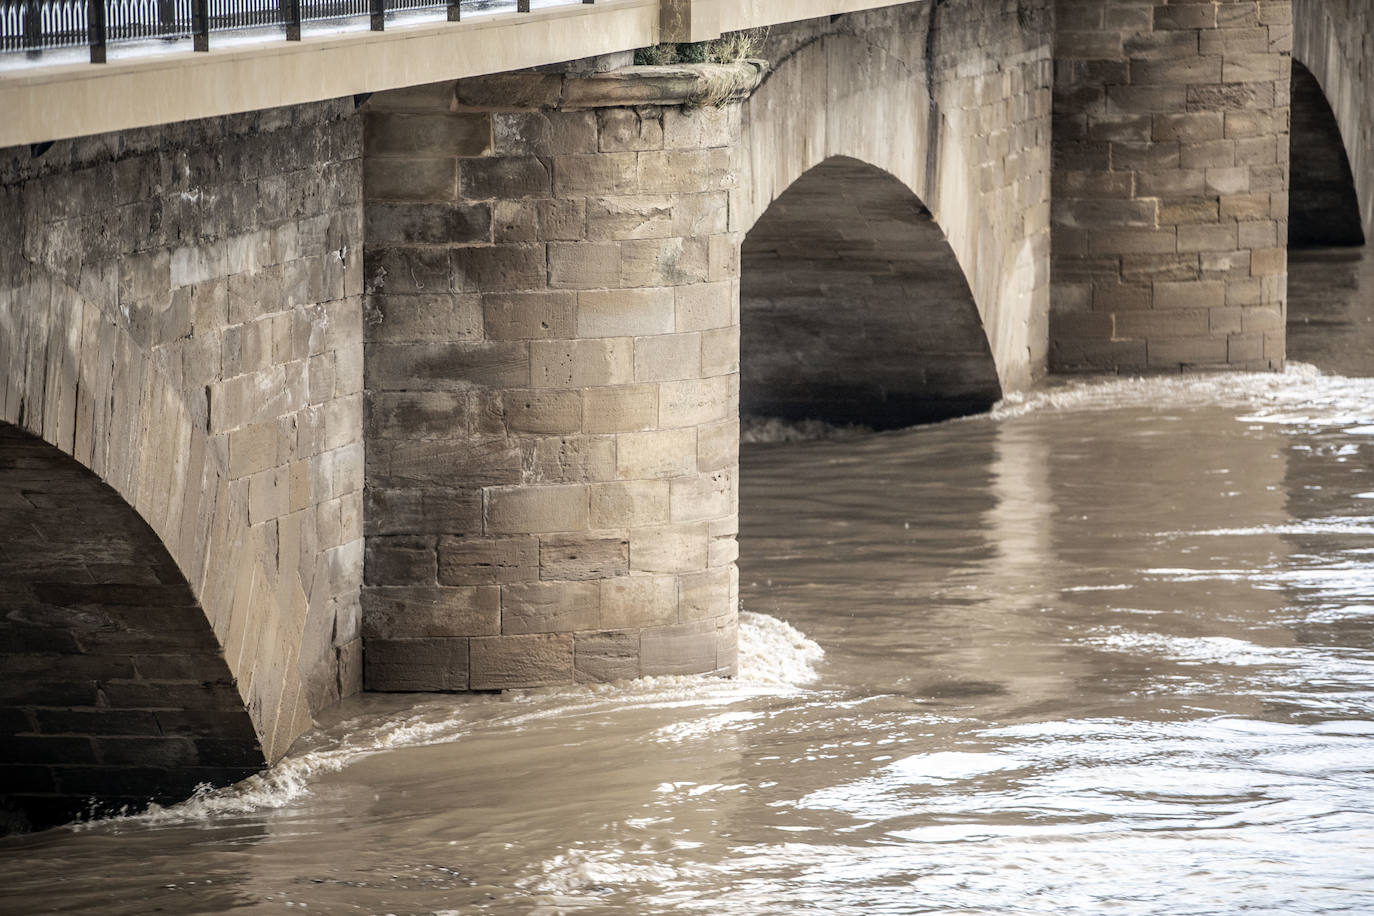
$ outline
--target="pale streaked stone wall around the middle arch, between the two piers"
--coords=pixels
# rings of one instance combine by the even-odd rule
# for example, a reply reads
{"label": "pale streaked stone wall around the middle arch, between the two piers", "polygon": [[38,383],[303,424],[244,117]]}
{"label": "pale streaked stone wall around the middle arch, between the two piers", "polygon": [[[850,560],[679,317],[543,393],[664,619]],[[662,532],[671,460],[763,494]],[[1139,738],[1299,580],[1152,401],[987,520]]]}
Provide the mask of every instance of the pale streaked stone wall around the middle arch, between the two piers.
{"label": "pale streaked stone wall around the middle arch, between the two piers", "polygon": [[1020,7],[911,3],[775,26],[731,199],[732,228],[749,231],[834,157],[892,176],[943,231],[1003,391],[1041,375],[1048,347],[1051,36],[1046,4]]}

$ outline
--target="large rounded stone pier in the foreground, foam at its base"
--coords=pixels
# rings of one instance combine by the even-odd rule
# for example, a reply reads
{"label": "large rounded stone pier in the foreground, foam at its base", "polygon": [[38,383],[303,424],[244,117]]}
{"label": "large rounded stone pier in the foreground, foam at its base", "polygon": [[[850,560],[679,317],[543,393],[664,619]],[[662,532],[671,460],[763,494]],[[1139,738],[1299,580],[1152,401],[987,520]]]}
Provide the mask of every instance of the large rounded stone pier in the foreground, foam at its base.
{"label": "large rounded stone pier in the foreground, foam at its base", "polygon": [[365,121],[370,689],[728,674],[735,100],[518,73]]}

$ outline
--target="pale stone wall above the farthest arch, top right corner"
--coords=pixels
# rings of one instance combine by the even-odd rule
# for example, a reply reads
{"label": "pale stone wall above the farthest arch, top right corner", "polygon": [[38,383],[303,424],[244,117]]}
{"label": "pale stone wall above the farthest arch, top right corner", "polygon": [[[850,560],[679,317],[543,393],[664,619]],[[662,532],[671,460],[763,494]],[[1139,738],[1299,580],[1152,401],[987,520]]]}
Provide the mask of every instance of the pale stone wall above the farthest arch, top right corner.
{"label": "pale stone wall above the farthest arch, top right corner", "polygon": [[1312,71],[1340,125],[1364,236],[1374,236],[1374,7],[1294,0],[1293,59]]}

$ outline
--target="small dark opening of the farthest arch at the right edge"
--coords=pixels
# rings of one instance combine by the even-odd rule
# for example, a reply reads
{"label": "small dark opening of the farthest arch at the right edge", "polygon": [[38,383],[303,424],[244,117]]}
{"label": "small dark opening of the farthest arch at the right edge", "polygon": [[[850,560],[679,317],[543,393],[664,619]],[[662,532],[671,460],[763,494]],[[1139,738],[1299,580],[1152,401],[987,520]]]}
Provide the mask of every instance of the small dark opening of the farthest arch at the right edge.
{"label": "small dark opening of the farthest arch at the right edge", "polygon": [[1360,205],[1336,121],[1312,71],[1293,60],[1289,247],[1364,244]]}

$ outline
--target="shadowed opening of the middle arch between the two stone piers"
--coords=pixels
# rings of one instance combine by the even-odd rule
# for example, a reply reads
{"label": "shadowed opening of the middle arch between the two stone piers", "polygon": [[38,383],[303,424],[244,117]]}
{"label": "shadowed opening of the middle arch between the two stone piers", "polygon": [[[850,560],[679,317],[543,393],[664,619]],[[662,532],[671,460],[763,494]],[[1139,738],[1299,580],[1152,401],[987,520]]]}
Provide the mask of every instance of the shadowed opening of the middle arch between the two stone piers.
{"label": "shadowed opening of the middle arch between the two stone piers", "polygon": [[900,180],[831,157],[741,253],[741,412],[894,428],[989,409],[1002,386],[944,232]]}

